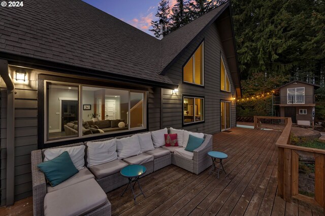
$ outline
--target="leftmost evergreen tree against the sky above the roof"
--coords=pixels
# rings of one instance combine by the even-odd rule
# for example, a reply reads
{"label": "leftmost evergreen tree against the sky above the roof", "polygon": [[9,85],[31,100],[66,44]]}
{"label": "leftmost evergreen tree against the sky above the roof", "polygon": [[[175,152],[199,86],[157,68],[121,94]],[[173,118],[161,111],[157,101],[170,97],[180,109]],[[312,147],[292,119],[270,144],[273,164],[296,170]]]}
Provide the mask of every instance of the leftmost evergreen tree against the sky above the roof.
{"label": "leftmost evergreen tree against the sky above the roof", "polygon": [[157,13],[155,16],[158,18],[156,21],[151,21],[152,29],[149,29],[152,31],[156,38],[159,38],[160,35],[160,24],[159,20],[163,20],[163,35],[170,33],[171,29],[171,23],[170,23],[170,13],[171,8],[169,6],[169,0],[161,0],[159,3]]}

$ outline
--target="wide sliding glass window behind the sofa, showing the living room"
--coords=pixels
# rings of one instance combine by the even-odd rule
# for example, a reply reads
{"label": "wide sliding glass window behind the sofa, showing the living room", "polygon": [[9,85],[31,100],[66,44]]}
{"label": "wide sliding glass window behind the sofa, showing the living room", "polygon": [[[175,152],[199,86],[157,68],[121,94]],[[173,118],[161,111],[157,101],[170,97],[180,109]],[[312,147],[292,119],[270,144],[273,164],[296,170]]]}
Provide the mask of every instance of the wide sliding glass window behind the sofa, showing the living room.
{"label": "wide sliding glass window behind the sofa, showing the living room", "polygon": [[146,92],[46,82],[46,140],[146,128]]}

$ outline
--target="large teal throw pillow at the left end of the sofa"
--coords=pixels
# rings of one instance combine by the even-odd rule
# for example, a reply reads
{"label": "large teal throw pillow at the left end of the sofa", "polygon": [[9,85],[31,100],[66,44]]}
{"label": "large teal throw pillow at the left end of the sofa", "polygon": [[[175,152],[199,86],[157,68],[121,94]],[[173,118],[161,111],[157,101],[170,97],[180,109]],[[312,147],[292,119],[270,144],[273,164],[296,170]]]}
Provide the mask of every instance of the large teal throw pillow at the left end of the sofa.
{"label": "large teal throw pillow at the left end of the sofa", "polygon": [[38,164],[37,167],[44,173],[52,187],[79,172],[67,151],[52,160]]}

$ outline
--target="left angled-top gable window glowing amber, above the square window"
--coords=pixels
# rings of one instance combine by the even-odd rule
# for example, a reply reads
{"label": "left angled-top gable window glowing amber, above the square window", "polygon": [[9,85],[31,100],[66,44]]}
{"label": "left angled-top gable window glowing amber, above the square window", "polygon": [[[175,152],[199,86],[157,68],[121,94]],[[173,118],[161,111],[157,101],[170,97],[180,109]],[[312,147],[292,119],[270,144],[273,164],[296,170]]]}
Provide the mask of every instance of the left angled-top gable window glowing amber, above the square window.
{"label": "left angled-top gable window glowing amber, above the square window", "polygon": [[183,68],[184,82],[204,85],[204,43],[190,57]]}

